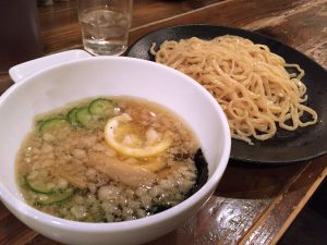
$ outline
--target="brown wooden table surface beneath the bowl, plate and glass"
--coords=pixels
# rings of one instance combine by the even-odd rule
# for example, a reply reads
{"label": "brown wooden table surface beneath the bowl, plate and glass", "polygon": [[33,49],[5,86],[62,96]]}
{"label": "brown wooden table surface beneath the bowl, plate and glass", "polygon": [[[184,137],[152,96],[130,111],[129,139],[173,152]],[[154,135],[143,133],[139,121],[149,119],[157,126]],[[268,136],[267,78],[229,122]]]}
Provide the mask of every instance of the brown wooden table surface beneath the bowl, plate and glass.
{"label": "brown wooden table surface beneath the bowl, plate and glass", "polygon": [[[45,54],[82,48],[76,2],[39,8]],[[206,23],[277,38],[327,69],[327,0],[135,0],[130,44],[167,26]],[[327,81],[326,81],[327,83]],[[0,94],[12,85],[0,75]],[[214,196],[159,244],[276,244],[327,174],[327,157],[274,168],[230,162]],[[58,244],[0,203],[0,244]]]}

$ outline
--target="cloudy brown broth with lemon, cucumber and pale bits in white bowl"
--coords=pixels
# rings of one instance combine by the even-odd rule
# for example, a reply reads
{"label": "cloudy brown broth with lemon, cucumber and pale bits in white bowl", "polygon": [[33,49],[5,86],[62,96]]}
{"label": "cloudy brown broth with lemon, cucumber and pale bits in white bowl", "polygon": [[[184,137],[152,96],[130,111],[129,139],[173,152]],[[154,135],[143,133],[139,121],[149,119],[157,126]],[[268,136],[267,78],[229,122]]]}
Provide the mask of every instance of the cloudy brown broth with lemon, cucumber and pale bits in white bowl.
{"label": "cloudy brown broth with lemon, cucumber and pale bits in white bowl", "polygon": [[35,119],[16,159],[22,196],[85,222],[144,218],[197,186],[199,143],[168,109],[133,97],[77,101]]}

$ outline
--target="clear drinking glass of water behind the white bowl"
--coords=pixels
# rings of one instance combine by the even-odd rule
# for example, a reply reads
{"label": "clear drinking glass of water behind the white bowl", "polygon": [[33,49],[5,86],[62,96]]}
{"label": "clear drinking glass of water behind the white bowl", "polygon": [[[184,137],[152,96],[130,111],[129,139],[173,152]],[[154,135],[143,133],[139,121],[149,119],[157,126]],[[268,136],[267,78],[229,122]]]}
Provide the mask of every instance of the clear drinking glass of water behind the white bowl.
{"label": "clear drinking glass of water behind the white bowl", "polygon": [[119,56],[128,48],[133,0],[78,0],[84,49],[95,56]]}

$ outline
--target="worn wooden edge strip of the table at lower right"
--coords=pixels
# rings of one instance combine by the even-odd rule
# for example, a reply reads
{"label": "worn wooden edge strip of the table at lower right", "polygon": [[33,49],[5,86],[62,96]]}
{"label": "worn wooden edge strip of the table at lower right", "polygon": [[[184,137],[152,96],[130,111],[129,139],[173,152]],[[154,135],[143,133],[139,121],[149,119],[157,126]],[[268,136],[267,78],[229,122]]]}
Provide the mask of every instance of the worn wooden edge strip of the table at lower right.
{"label": "worn wooden edge strip of the table at lower right", "polygon": [[[262,220],[252,228],[240,244],[276,244],[326,177],[325,161],[322,158],[310,162],[299,174],[295,174],[270,204]],[[320,172],[315,179],[311,175],[313,169]]]}

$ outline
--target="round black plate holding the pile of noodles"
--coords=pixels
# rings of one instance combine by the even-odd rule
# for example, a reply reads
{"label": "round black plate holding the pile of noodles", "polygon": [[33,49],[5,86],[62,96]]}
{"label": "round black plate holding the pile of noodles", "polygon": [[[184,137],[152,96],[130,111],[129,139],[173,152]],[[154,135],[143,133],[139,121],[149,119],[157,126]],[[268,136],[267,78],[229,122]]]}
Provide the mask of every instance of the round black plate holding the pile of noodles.
{"label": "round black plate holding the pile of noodles", "polygon": [[306,161],[327,152],[327,72],[303,53],[267,36],[225,26],[213,25],[183,25],[173,26],[150,33],[136,41],[128,51],[129,57],[152,60],[149,47],[156,47],[165,40],[180,40],[191,37],[211,39],[221,35],[237,35],[249,38],[256,44],[267,45],[270,50],[288,63],[298,63],[305,70],[303,78],[307,87],[307,106],[318,113],[318,123],[312,126],[298,128],[294,132],[278,130],[277,135],[268,140],[254,140],[250,146],[241,140],[233,139],[231,159],[238,161],[268,164],[286,164]]}

